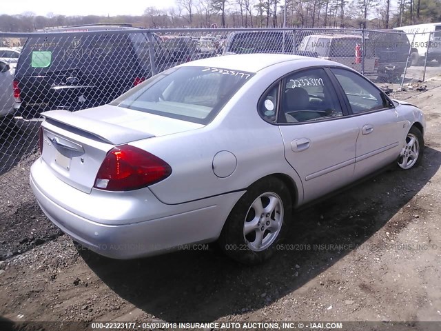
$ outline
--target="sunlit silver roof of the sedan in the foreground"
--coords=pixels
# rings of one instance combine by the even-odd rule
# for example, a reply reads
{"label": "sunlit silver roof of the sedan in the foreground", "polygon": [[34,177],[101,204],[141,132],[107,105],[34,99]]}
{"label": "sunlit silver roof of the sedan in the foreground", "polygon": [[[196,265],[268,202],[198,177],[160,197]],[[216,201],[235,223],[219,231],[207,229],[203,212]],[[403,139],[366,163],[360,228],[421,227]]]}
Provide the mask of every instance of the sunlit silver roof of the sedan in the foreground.
{"label": "sunlit silver roof of the sedan in the foreground", "polygon": [[207,59],[201,59],[184,63],[181,66],[201,66],[201,67],[213,67],[223,68],[227,70],[240,70],[245,72],[258,72],[269,66],[274,66],[278,63],[287,61],[295,61],[296,66],[342,66],[340,63],[334,61],[328,61],[324,59],[318,59],[315,57],[301,57],[299,55],[291,54],[234,54],[224,55],[221,57],[209,57]]}

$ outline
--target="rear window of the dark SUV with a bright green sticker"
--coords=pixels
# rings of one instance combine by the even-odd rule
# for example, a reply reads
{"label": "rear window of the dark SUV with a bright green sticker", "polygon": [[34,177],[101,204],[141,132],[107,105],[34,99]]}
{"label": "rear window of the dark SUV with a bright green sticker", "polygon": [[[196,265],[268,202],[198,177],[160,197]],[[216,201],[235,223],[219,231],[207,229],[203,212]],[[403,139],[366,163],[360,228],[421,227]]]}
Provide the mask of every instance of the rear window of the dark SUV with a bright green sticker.
{"label": "rear window of the dark SUV with a bright green sticker", "polygon": [[66,33],[65,36],[30,37],[21,52],[17,74],[126,71],[139,63],[149,63],[148,52],[139,52],[136,48],[145,44],[143,34]]}

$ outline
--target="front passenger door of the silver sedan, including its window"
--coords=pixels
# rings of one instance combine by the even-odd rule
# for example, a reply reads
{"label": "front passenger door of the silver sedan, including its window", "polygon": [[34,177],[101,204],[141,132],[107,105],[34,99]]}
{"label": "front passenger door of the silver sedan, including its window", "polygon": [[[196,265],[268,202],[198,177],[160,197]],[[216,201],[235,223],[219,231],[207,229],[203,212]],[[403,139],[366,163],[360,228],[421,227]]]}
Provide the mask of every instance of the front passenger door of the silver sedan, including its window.
{"label": "front passenger door of the silver sedan, including its window", "polygon": [[403,130],[408,123],[400,118],[393,102],[373,83],[356,72],[331,68],[360,130],[356,141],[354,177],[360,178],[398,158]]}

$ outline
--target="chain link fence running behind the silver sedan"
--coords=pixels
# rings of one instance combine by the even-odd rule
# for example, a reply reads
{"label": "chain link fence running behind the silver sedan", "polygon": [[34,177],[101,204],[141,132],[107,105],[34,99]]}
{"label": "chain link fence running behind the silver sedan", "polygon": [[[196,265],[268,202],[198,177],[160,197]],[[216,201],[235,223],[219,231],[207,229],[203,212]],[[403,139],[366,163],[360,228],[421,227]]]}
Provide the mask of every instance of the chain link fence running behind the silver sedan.
{"label": "chain link fence running behind the silver sedan", "polygon": [[0,33],[1,201],[21,194],[8,172],[37,151],[41,112],[101,106],[181,63],[228,54],[299,54],[343,63],[391,90],[409,88],[441,71],[441,39],[435,32],[130,26],[48,31]]}

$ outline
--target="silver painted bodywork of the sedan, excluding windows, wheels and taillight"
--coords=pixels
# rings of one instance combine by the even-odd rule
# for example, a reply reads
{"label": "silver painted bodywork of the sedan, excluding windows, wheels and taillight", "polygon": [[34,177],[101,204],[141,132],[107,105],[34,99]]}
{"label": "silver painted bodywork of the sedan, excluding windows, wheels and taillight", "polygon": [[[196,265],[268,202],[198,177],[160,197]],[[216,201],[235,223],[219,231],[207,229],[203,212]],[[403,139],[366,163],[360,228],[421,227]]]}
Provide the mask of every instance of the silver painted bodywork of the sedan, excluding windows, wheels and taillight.
{"label": "silver painted bodywork of the sedan, excluding windows, wheels and taillight", "polygon": [[[258,99],[283,75],[313,66],[340,66],[321,59],[246,54],[183,66],[256,74],[205,126],[114,106],[63,113],[62,120],[61,112],[47,113],[52,120],[43,123],[46,145],[31,168],[32,190],[54,223],[100,254],[126,259],[214,241],[236,202],[258,179],[283,175],[296,190],[294,206],[302,205],[391,163],[413,123],[425,126],[422,112],[404,103],[284,126],[258,116]],[[84,124],[83,117],[88,118]],[[119,129],[112,132],[114,126]],[[124,139],[119,133],[123,130],[134,130],[134,135]],[[172,174],[140,190],[93,188],[105,154],[114,147],[110,141],[156,155],[171,166]],[[302,147],[305,141],[307,148]],[[59,154],[69,164],[63,158],[61,164],[54,161]],[[103,250],[105,245],[130,243],[136,247]]]}

